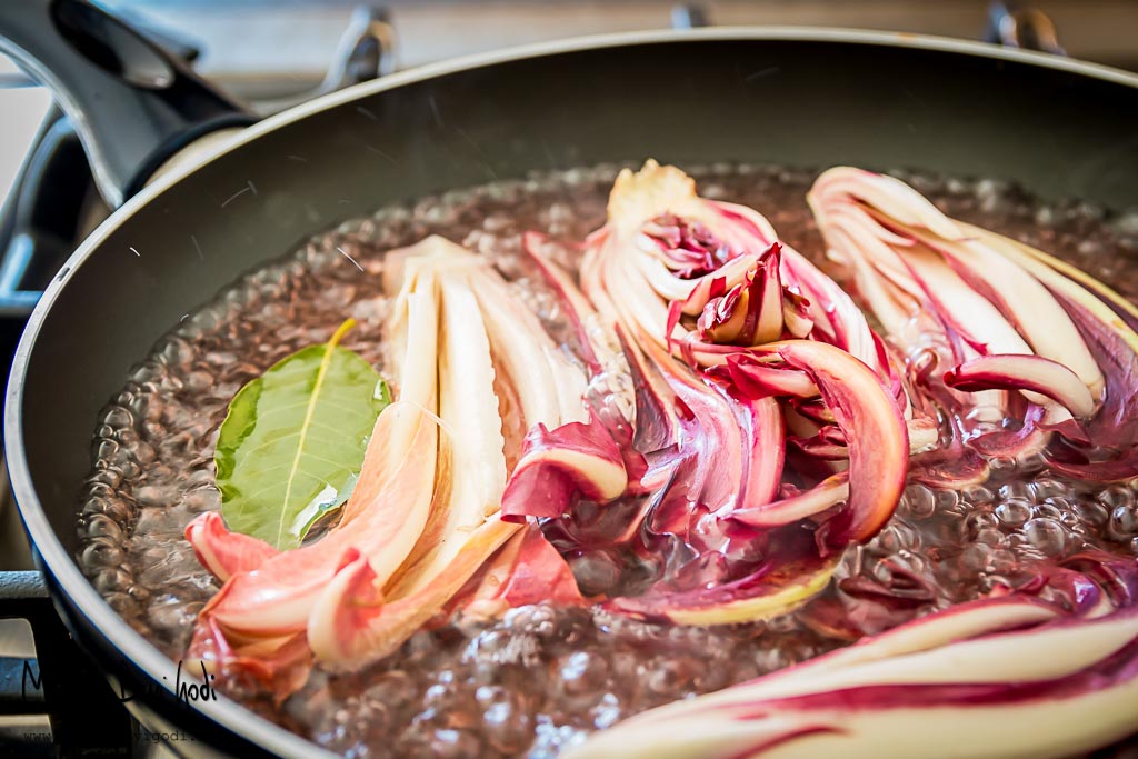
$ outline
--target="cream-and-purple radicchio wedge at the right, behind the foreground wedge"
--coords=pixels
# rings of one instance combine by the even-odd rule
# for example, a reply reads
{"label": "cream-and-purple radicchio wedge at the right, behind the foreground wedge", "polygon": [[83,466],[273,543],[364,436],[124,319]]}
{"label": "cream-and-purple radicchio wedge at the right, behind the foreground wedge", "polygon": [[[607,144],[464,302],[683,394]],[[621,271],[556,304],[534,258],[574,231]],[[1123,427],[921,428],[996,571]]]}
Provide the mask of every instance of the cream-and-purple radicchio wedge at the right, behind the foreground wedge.
{"label": "cream-and-purple radicchio wedge at the right, behind the foreground wedge", "polygon": [[[1054,470],[1086,479],[1138,473],[1138,308],[888,176],[831,170],[809,200],[832,257],[913,362],[910,395],[951,424],[950,451],[914,462],[915,476],[971,479],[979,467],[947,467],[963,445],[1017,459],[1044,451]],[[1021,424],[992,429],[1005,419]]]}

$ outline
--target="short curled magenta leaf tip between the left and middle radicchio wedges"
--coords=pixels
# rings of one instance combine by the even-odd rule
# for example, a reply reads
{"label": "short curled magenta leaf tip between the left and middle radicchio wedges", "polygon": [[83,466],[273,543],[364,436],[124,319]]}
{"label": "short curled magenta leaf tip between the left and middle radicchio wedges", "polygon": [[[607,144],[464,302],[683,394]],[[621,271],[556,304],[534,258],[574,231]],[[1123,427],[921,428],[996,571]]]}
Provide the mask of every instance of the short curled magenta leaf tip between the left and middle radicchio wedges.
{"label": "short curled magenta leaf tip between the left and middle radicchio wedges", "polygon": [[502,519],[560,517],[578,498],[607,503],[627,487],[620,448],[600,421],[570,422],[552,431],[537,424],[506,482]]}

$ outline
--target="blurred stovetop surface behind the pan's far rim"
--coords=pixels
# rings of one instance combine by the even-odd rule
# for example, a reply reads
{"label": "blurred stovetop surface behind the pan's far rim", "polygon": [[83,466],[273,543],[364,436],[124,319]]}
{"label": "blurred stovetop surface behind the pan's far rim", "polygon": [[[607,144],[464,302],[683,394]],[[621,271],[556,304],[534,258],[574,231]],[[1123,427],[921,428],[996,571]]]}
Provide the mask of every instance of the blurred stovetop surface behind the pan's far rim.
{"label": "blurred stovetop surface behind the pan's far rim", "polygon": [[[114,0],[106,7],[152,19],[201,44],[200,69],[244,80],[278,72],[319,80],[354,5],[349,0]],[[1138,66],[1133,0],[1039,0],[1070,55]],[[452,56],[599,32],[673,25],[667,0],[393,0],[398,63],[418,66]],[[718,0],[693,3],[709,24],[783,24],[983,35],[986,0]],[[250,83],[253,84],[253,83]]]}

